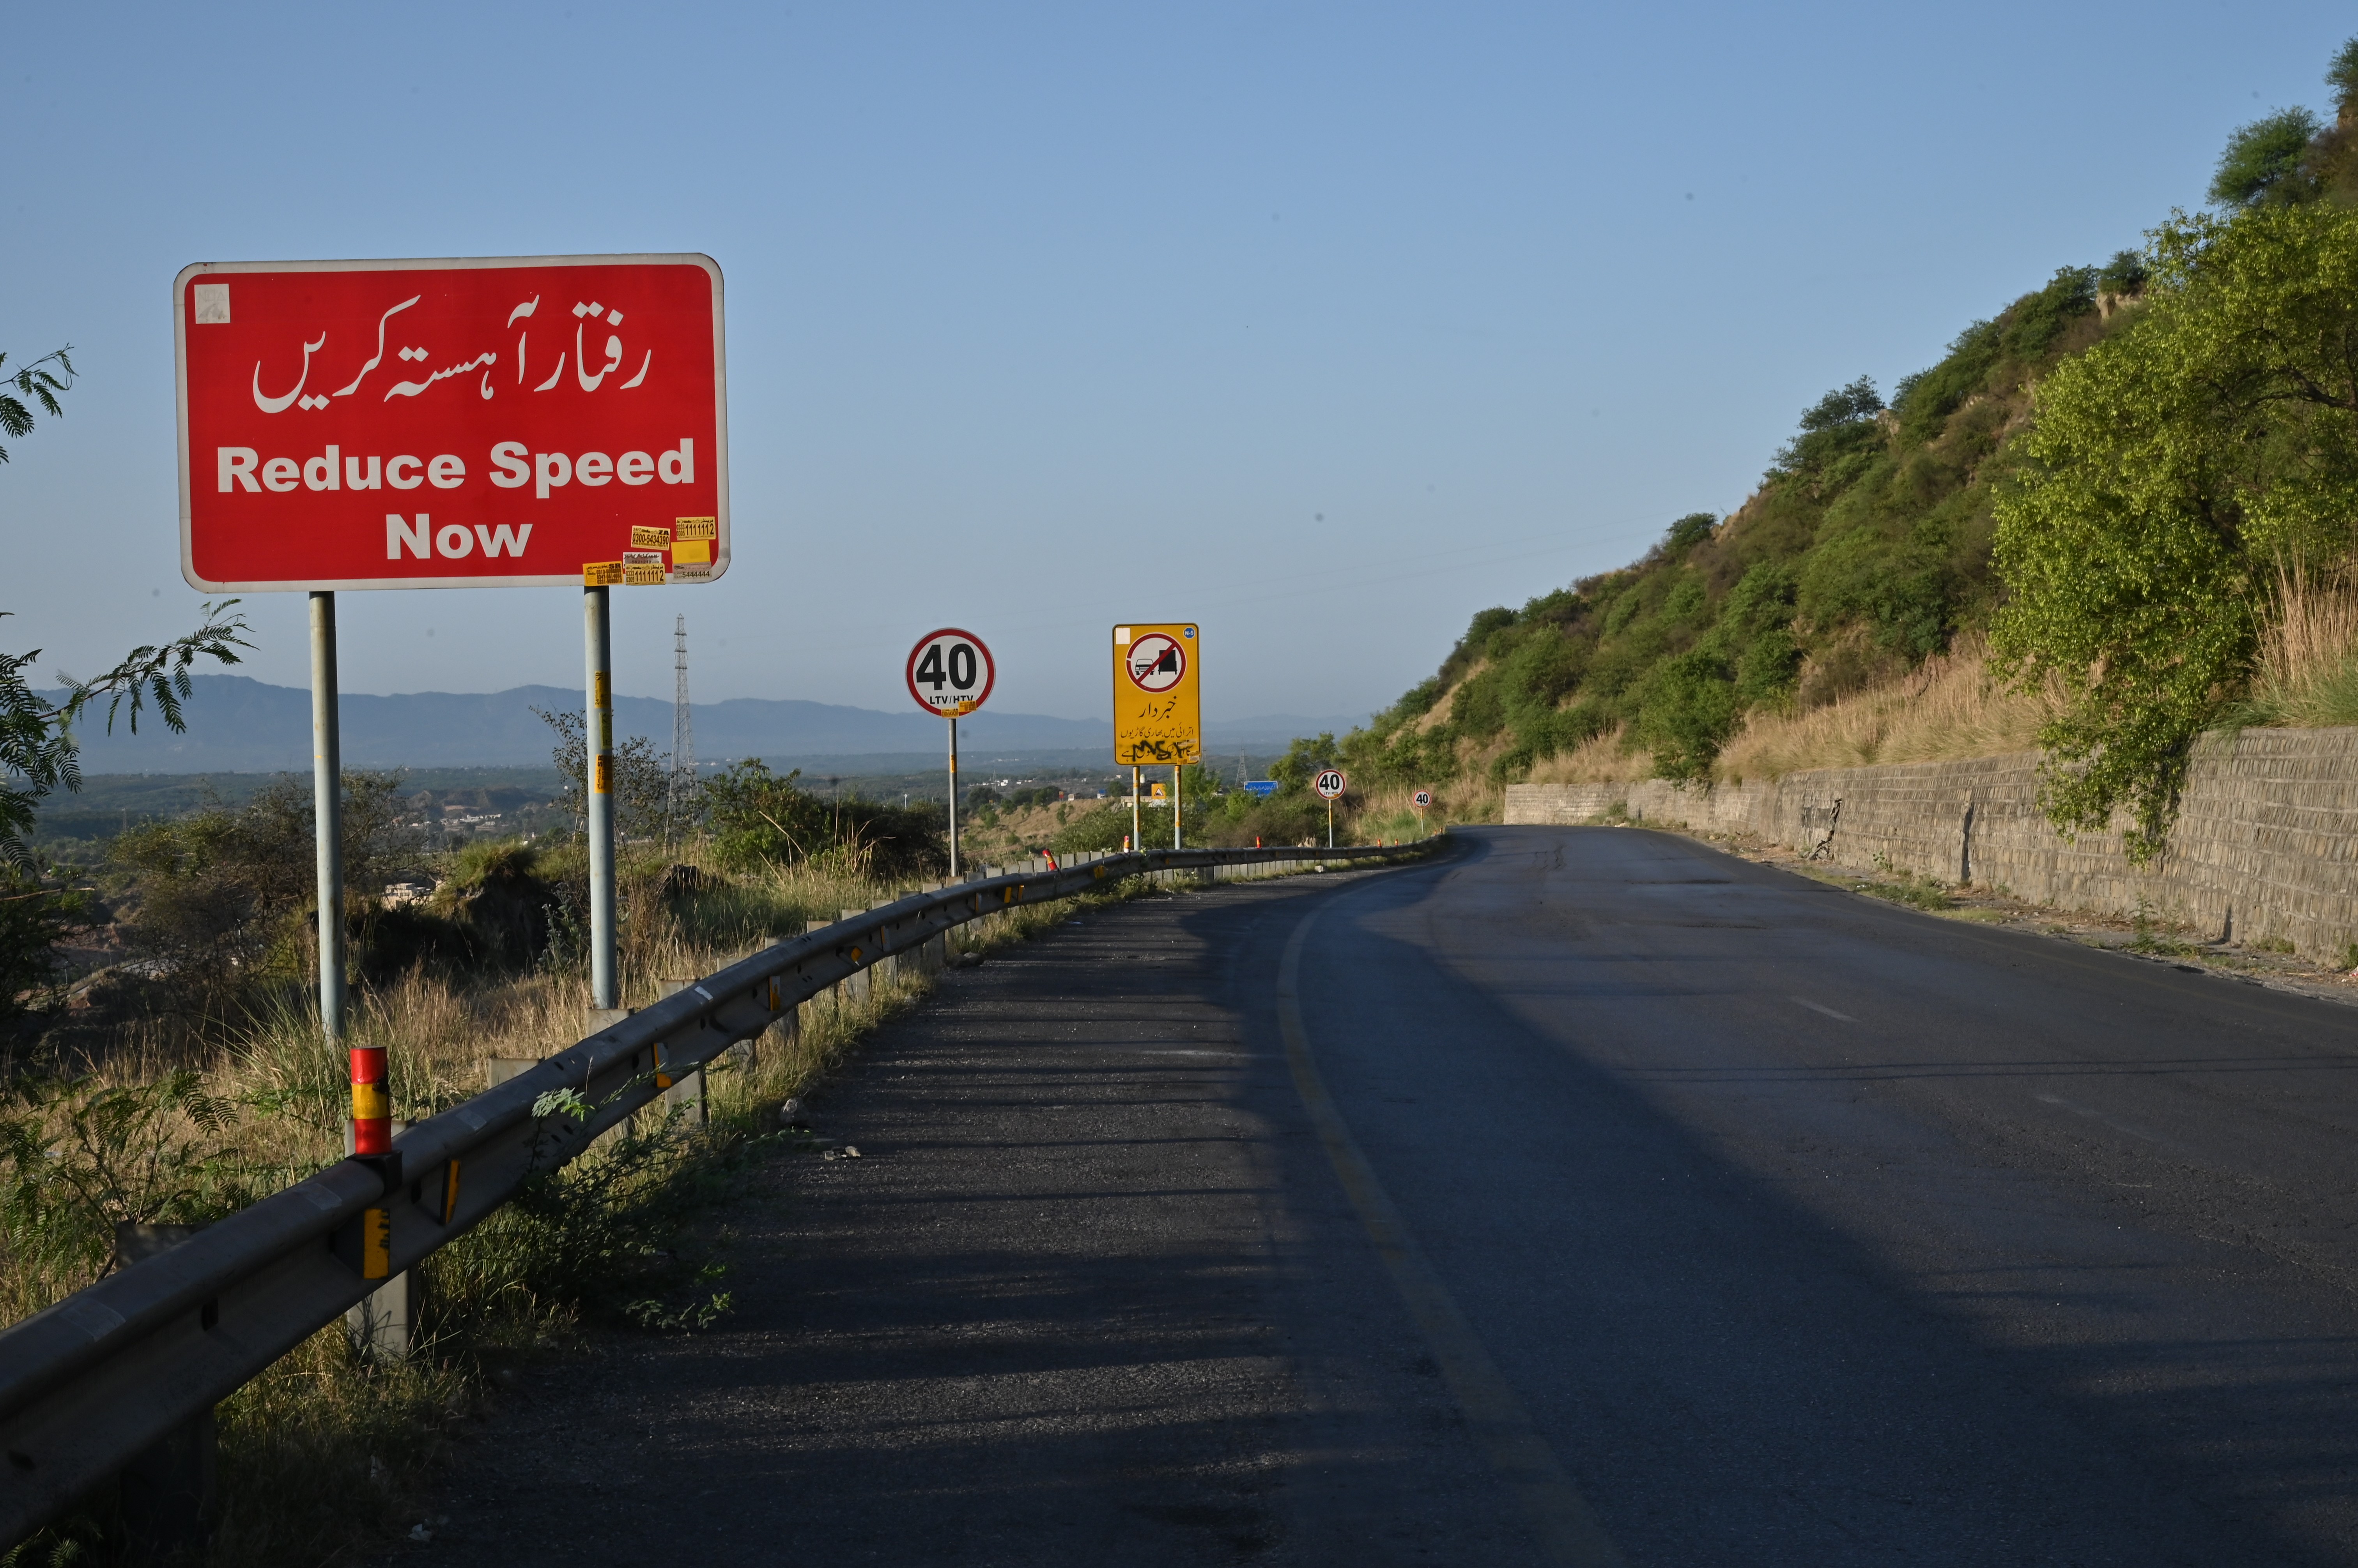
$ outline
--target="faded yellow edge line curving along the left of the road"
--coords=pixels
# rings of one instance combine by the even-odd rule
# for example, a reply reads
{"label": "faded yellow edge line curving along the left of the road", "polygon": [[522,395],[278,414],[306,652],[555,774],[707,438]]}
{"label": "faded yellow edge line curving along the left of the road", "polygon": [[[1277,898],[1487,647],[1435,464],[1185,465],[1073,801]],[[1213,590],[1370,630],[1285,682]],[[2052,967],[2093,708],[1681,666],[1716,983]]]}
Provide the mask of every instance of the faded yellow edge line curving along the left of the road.
{"label": "faded yellow edge line curving along the left of the road", "polygon": [[1351,1207],[1358,1210],[1358,1221],[1365,1226],[1368,1240],[1375,1243],[1377,1257],[1384,1259],[1384,1271],[1391,1273],[1408,1316],[1424,1332],[1424,1344],[1431,1346],[1467,1427],[1481,1441],[1507,1490],[1523,1504],[1540,1547],[1552,1561],[1570,1568],[1625,1568],[1627,1559],[1596,1523],[1589,1500],[1563,1474],[1556,1450],[1540,1436],[1523,1401],[1514,1396],[1481,1337],[1474,1335],[1474,1325],[1457,1311],[1441,1276],[1424,1261],[1415,1236],[1408,1233],[1408,1224],[1384,1184],[1377,1181],[1351,1137],[1351,1127],[1342,1120],[1342,1111],[1335,1108],[1325,1078],[1318,1075],[1309,1033],[1302,1028],[1299,995],[1302,946],[1316,920],[1313,913],[1295,927],[1285,943],[1285,957],[1278,960],[1278,1033],[1285,1037],[1285,1066],[1292,1068],[1295,1089],[1311,1113],[1311,1125],[1335,1165],[1335,1177],[1342,1179]]}

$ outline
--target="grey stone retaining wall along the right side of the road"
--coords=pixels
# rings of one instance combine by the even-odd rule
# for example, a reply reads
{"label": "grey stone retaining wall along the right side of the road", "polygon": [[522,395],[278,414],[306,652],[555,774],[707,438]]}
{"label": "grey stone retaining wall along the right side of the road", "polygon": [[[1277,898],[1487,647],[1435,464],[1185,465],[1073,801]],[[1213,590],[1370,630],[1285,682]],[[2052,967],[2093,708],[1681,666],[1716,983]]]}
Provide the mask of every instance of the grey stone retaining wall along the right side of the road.
{"label": "grey stone retaining wall along the right side of the road", "polygon": [[2037,755],[1820,769],[1743,785],[1507,785],[1509,823],[1632,821],[1750,832],[1844,865],[1886,863],[2073,910],[2162,920],[2334,957],[2358,938],[2358,729],[2247,729],[2195,752],[2169,851],[2066,842],[2037,809]]}

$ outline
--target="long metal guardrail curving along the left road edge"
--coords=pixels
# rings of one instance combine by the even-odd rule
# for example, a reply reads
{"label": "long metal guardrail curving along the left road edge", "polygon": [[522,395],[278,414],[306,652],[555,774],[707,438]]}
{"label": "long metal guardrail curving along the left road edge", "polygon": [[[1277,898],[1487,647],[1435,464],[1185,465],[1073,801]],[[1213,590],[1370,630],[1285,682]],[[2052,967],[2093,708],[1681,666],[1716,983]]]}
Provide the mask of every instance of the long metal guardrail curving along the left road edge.
{"label": "long metal guardrail curving along the left road edge", "polygon": [[[1356,849],[1153,849],[960,882],[780,941],[590,1035],[528,1073],[417,1122],[384,1165],[342,1160],[130,1264],[0,1332],[0,1542],[14,1544],[141,1452],[205,1419],[384,1280],[465,1236],[538,1172],[797,1004],[969,920],[1155,872],[1328,865],[1424,854],[1438,839]],[[592,1113],[533,1115],[573,1089]],[[363,1238],[370,1212],[389,1219]]]}

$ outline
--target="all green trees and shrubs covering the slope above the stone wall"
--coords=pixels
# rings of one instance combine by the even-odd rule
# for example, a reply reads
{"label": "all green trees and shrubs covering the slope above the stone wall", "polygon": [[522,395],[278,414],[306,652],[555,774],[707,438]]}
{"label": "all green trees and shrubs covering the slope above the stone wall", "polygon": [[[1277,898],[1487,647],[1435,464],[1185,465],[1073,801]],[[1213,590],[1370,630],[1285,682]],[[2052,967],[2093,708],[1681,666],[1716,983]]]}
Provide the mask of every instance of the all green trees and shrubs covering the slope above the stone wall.
{"label": "all green trees and shrubs covering the slope above the stone wall", "polygon": [[2358,40],[2327,83],[2332,127],[2235,132],[2217,215],[2056,271],[1889,403],[1865,377],[1827,391],[1733,516],[1478,613],[1335,757],[1394,785],[1608,759],[1705,780],[1792,766],[1809,733],[1924,731],[1896,710],[1938,686],[1969,729],[2035,738],[2059,828],[2125,811],[2155,854],[2205,729],[2358,691],[2358,644],[2316,646],[2358,571]]}

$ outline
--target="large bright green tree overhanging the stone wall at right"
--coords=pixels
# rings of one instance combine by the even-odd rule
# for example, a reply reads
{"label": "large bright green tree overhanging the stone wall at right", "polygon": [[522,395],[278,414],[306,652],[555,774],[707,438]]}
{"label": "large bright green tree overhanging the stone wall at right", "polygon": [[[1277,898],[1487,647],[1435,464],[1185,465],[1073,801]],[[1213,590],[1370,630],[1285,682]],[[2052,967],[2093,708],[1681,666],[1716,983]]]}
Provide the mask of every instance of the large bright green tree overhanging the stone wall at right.
{"label": "large bright green tree overhanging the stone wall at right", "polygon": [[2358,519],[2358,212],[2155,231],[2143,316],[2054,368],[1997,502],[2000,670],[2056,681],[2044,806],[2160,854],[2193,740],[2242,684],[2278,564]]}

